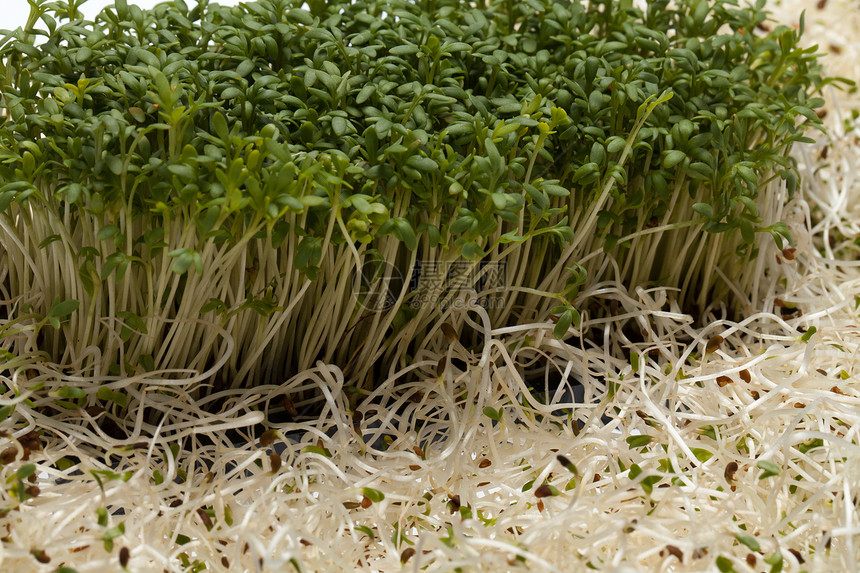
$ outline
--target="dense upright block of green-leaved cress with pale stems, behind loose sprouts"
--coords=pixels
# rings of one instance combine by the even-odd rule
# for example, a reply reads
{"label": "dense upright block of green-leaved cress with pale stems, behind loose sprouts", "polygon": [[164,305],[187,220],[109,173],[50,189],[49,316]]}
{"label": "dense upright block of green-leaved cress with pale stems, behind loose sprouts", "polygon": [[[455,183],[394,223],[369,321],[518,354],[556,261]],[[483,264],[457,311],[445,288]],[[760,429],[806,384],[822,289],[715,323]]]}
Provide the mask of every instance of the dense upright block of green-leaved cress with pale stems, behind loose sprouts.
{"label": "dense upright block of green-leaved cress with pale stems, behind loose sprouts", "polygon": [[366,261],[504,263],[494,319],[555,307],[563,335],[586,280],[708,300],[714,266],[787,236],[763,193],[794,189],[825,80],[762,0],[309,4],[54,2],[6,33],[13,353],[120,374],[232,350],[231,384],[317,359],[364,380],[462,322],[405,285],[365,313]]}

